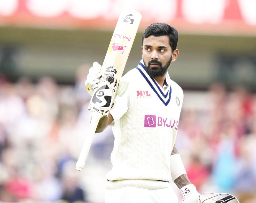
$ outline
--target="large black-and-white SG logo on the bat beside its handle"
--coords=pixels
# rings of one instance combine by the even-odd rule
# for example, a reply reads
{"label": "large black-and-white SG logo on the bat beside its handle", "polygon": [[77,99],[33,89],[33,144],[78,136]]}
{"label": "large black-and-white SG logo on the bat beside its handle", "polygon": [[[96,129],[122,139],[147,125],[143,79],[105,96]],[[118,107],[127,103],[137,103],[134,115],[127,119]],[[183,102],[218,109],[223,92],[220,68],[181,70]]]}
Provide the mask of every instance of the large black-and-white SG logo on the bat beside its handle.
{"label": "large black-and-white SG logo on the bat beside its handle", "polygon": [[101,107],[109,107],[111,105],[112,90],[108,84],[102,85],[96,90],[92,97],[92,102]]}

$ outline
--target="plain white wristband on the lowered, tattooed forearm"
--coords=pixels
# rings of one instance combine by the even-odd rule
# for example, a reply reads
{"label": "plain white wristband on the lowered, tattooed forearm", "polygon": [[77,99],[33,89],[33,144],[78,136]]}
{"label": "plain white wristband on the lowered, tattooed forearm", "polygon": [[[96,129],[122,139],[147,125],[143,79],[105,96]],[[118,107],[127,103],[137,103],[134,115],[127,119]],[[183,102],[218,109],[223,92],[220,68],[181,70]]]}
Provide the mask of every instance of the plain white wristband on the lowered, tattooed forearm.
{"label": "plain white wristband on the lowered, tattooed forearm", "polygon": [[184,165],[182,163],[180,154],[173,154],[170,156],[170,168],[171,168],[171,176],[172,180],[174,181],[179,176],[186,174],[186,170],[184,168]]}

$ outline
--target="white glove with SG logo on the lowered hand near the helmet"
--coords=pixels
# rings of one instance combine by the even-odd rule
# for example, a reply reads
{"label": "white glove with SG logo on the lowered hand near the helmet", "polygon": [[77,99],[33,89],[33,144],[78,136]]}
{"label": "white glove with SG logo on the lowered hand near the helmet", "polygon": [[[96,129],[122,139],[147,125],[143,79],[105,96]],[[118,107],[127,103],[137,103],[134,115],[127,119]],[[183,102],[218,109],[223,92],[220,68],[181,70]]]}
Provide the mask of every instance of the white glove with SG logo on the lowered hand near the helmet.
{"label": "white glove with SG logo on the lowered hand near the helmet", "polygon": [[[196,191],[196,187],[193,184],[188,184],[182,187],[180,191],[183,196],[182,203],[201,203],[206,199],[204,196],[200,195],[198,191]],[[204,201],[204,203],[207,203],[207,200]]]}

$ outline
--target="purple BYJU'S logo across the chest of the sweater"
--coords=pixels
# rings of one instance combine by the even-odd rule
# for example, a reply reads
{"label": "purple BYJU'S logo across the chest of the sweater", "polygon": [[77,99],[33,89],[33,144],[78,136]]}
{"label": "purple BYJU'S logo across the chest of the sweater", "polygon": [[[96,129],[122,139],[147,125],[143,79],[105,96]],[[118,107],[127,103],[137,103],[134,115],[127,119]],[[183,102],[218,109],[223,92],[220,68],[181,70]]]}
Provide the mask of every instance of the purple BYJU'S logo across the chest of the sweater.
{"label": "purple BYJU'S logo across the chest of the sweater", "polygon": [[179,121],[172,118],[164,118],[156,115],[145,115],[144,116],[144,127],[145,128],[156,128],[156,126],[162,126],[167,128],[174,128],[178,130]]}

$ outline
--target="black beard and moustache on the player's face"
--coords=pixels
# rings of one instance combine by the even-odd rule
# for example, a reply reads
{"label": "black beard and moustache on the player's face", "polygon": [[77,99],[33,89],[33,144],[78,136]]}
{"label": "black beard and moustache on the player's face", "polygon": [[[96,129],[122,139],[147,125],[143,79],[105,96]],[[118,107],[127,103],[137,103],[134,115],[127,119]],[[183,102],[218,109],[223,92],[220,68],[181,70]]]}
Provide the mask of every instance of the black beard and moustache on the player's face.
{"label": "black beard and moustache on the player's face", "polygon": [[[144,59],[143,59],[144,65],[146,64]],[[150,61],[148,61],[148,66],[146,67],[146,72],[148,73],[148,75],[150,75],[151,77],[157,77],[157,76],[163,76],[166,74],[168,67],[170,66],[172,62],[172,57],[169,59],[169,61],[166,63],[166,65],[163,67],[161,61],[158,61],[157,59],[152,59]],[[150,68],[150,64],[158,64],[160,67],[153,67]]]}

